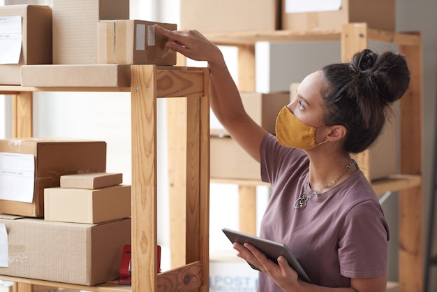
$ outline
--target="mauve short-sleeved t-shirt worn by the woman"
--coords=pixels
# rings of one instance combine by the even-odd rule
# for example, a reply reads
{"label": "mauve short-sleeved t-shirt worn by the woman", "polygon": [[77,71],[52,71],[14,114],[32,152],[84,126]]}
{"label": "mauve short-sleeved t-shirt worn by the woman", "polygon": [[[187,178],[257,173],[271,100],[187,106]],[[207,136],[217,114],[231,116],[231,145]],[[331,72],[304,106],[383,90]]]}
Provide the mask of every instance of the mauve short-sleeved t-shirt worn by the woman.
{"label": "mauve short-sleeved t-shirt worn by the woman", "polygon": [[[309,172],[306,153],[267,135],[260,163],[262,180],[272,184],[260,237],[287,244],[313,284],[348,287],[350,278],[387,273],[389,228],[361,170],[297,210],[293,204]],[[260,272],[258,291],[282,290]]]}

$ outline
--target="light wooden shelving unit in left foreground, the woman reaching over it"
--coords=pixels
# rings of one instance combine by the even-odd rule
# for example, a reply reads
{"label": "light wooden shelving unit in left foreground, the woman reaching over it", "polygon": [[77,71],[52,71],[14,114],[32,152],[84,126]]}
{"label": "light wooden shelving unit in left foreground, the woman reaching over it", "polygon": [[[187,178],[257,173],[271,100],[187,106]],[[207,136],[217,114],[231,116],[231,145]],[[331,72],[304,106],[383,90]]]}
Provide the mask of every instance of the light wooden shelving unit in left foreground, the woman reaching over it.
{"label": "light wooden shelving unit in left foreground, the woman reaching over it", "polygon": [[[87,291],[207,291],[209,277],[209,74],[207,68],[133,65],[131,87],[0,86],[13,95],[13,136],[32,136],[32,92],[131,92],[132,286],[80,286],[1,276],[15,292],[32,285]],[[175,98],[170,98],[175,97]],[[184,97],[184,98],[179,98]],[[156,275],[156,98],[186,103],[186,261]],[[171,131],[171,130],[170,130]],[[169,163],[171,163],[170,161]],[[180,169],[178,170],[180,171]],[[120,251],[121,252],[121,251]]]}

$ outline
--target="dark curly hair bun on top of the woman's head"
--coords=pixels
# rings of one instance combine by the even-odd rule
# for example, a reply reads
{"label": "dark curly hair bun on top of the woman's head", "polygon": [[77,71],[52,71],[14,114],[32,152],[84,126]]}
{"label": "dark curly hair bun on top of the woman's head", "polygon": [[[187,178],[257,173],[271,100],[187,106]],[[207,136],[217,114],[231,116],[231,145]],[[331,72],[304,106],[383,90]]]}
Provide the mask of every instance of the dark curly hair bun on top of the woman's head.
{"label": "dark curly hair bun on top of the woman's head", "polygon": [[355,78],[357,90],[376,90],[376,95],[385,103],[401,98],[410,83],[406,59],[396,52],[377,54],[368,49],[362,50],[353,56],[350,68],[358,73]]}

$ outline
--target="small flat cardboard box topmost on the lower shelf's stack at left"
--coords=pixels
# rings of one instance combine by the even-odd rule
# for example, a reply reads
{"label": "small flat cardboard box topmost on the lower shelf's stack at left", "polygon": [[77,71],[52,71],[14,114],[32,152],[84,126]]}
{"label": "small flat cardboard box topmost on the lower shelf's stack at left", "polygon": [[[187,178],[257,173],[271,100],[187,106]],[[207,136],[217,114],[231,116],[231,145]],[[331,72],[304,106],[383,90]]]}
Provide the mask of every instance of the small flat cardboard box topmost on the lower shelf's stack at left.
{"label": "small flat cardboard box topmost on the lower shelf's stack at left", "polygon": [[101,189],[123,182],[123,173],[76,173],[61,175],[61,188]]}

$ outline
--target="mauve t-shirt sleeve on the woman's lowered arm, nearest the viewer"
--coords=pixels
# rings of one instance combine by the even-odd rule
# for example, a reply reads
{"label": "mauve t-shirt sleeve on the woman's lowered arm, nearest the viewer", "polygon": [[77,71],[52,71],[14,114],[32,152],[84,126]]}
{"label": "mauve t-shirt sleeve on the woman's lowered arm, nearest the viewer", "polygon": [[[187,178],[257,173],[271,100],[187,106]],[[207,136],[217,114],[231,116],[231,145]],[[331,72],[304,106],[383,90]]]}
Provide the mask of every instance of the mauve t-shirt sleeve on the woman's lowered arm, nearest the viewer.
{"label": "mauve t-shirt sleeve on the woman's lowered arm, nearest the viewer", "polygon": [[367,200],[352,207],[339,236],[341,275],[369,278],[387,274],[390,235],[377,201]]}

